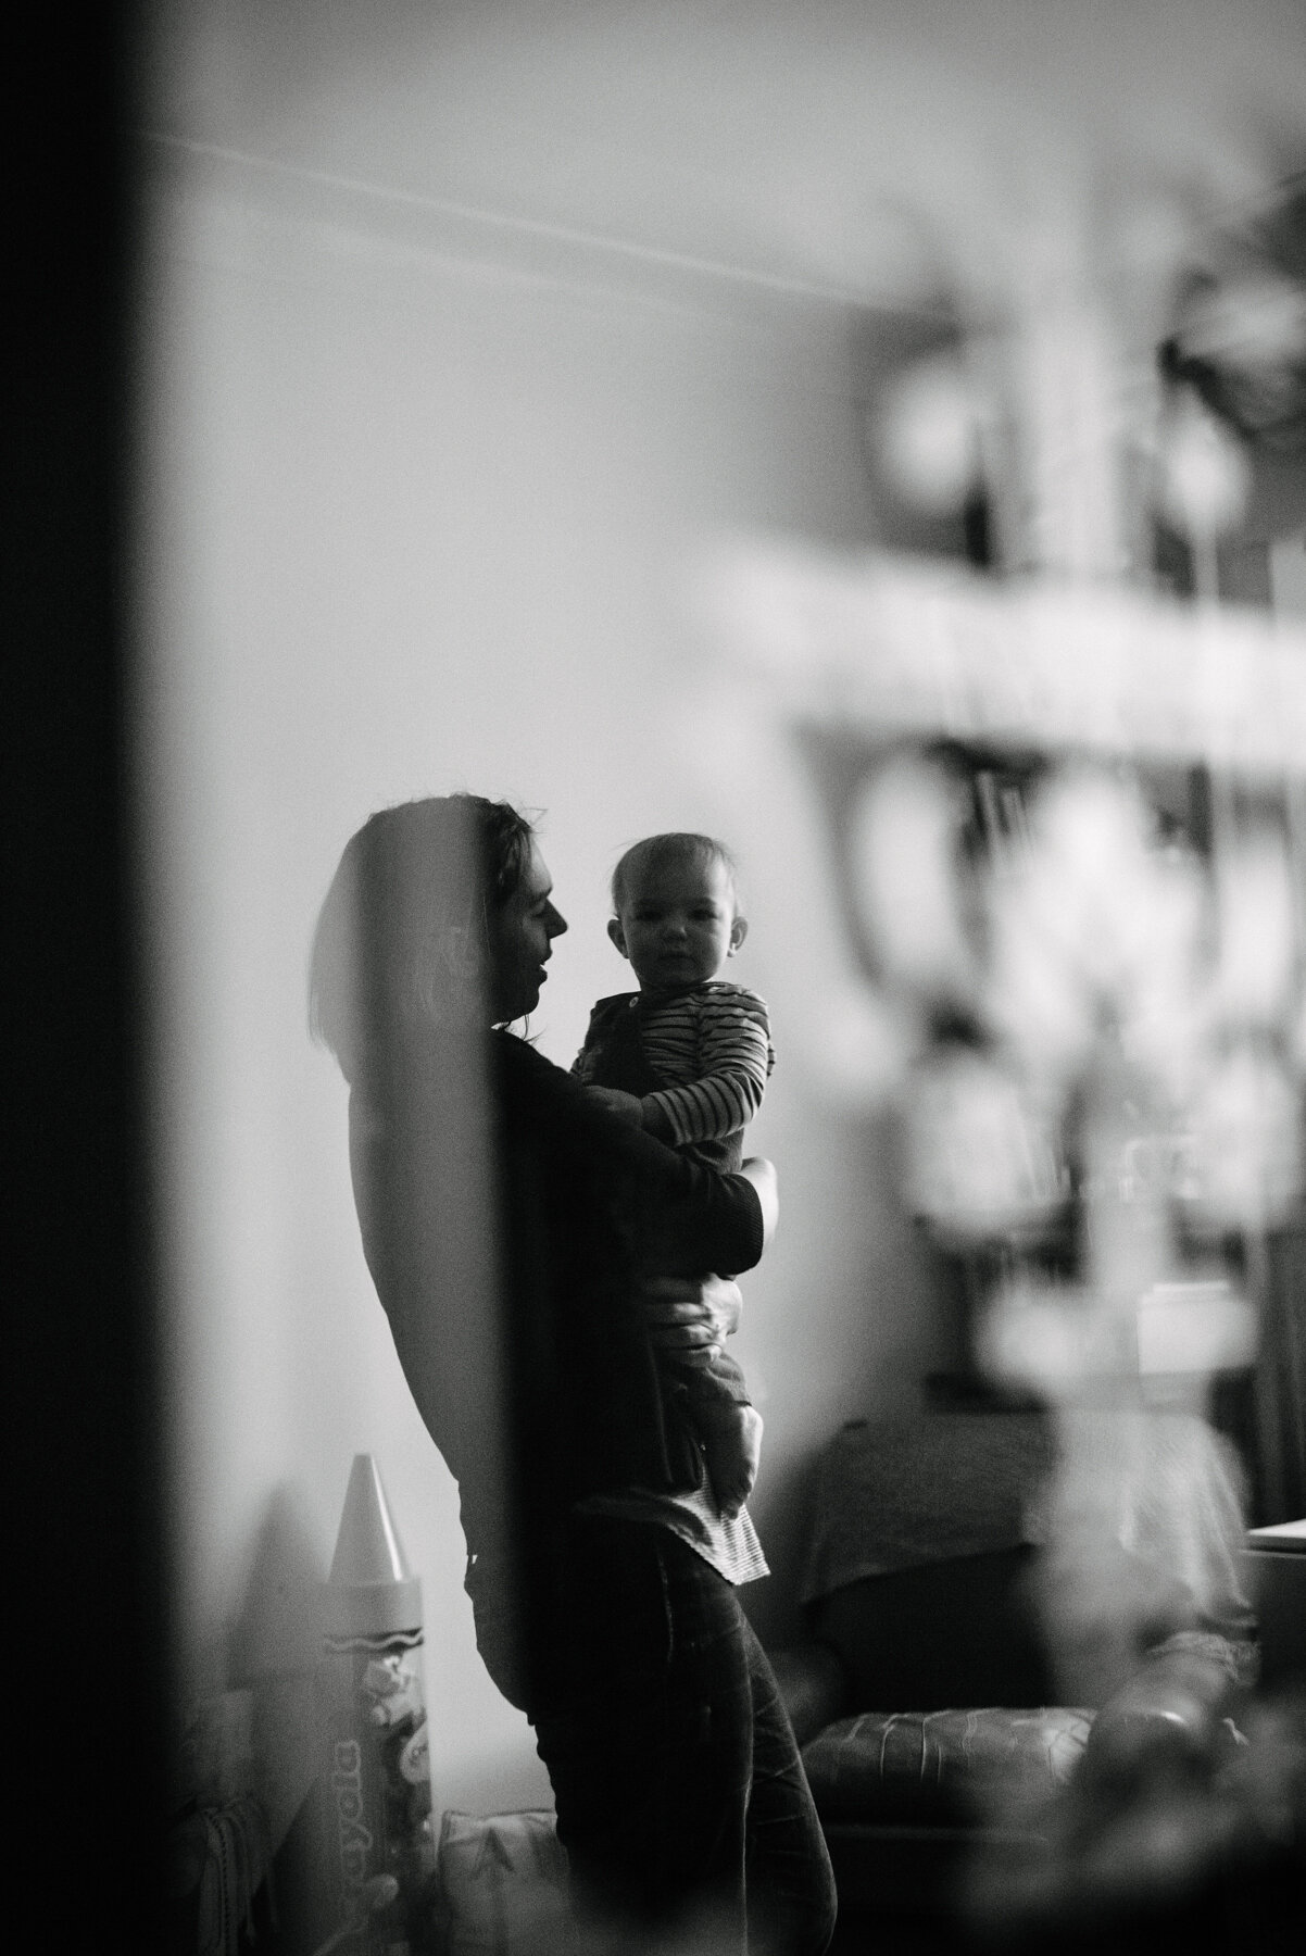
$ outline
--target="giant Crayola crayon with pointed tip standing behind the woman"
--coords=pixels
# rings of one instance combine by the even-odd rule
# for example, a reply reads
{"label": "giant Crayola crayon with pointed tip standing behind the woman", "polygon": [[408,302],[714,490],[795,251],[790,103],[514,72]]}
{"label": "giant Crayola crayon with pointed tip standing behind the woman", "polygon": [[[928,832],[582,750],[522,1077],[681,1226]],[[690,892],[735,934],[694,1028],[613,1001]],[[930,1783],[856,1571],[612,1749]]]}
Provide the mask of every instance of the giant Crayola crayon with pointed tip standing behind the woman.
{"label": "giant Crayola crayon with pointed tip standing behind the woman", "polygon": [[430,1749],[422,1586],[370,1453],[356,1453],[325,1584],[321,1704],[332,1944],[405,1956],[430,1940]]}

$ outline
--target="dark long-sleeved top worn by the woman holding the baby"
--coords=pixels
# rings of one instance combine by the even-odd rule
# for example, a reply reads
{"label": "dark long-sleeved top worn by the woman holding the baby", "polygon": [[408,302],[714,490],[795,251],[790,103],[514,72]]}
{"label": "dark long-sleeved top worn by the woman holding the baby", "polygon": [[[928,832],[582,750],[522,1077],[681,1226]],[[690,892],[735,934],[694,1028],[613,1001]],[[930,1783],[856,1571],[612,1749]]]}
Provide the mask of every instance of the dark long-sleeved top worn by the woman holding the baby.
{"label": "dark long-sleeved top worn by the woman holding the baby", "polygon": [[[493,1215],[467,1195],[477,1066]],[[635,1285],[751,1269],[762,1254],[753,1185],[606,1113],[508,1033],[475,1052],[432,1043],[389,1078],[389,1091],[356,1088],[350,1101],[354,1195],[409,1387],[459,1483],[469,1549],[512,1541],[547,1557],[587,1494],[692,1485],[688,1424]],[[467,1309],[477,1266],[497,1311]],[[747,1399],[733,1359],[714,1371],[718,1391]]]}

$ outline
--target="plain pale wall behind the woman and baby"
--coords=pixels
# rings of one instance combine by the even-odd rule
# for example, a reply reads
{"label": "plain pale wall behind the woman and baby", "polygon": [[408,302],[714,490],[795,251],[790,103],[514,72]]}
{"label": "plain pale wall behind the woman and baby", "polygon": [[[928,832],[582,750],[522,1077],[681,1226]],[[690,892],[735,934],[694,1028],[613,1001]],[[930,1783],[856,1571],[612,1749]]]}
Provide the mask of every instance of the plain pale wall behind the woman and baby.
{"label": "plain pale wall behind the woman and baby", "polygon": [[151,155],[141,761],[184,1674],[307,1663],[311,1580],[371,1451],[424,1580],[436,1800],[544,1800],[475,1659],[454,1489],[364,1267],[307,945],[370,810],[454,786],[545,810],[571,935],[536,1029],[569,1062],[628,982],[604,937],[618,849],[669,825],[737,843],[737,974],[780,1050],[755,1138],[784,1201],[739,1338],[776,1565],[751,1606],[792,1629],[802,1467],[907,1391],[936,1334],[876,1136],[804,1070],[815,894],[768,782],[692,737],[712,647],[684,583],[723,528],[866,536],[847,319]]}

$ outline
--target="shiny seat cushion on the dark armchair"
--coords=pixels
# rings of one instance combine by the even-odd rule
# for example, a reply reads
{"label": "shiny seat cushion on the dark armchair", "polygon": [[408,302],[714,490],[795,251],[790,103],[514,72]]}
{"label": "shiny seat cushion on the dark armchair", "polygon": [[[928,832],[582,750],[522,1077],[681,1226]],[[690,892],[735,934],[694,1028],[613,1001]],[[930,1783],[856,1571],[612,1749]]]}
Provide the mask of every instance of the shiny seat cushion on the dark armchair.
{"label": "shiny seat cushion on the dark armchair", "polygon": [[1023,1800],[1064,1786],[1091,1723],[1091,1712],[1062,1706],[862,1712],[804,1747],[804,1766],[821,1819],[978,1819],[1017,1786]]}

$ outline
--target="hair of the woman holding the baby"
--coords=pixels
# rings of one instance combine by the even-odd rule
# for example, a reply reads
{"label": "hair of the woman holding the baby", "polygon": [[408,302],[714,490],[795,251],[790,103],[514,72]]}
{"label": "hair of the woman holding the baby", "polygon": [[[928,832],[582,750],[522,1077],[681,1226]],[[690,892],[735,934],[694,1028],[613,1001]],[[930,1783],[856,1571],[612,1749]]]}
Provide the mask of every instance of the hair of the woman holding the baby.
{"label": "hair of the woman holding the baby", "polygon": [[440,1027],[489,1023],[489,923],[532,841],[526,816],[479,794],[399,802],[350,837],[309,960],[309,1029],[346,1080]]}

